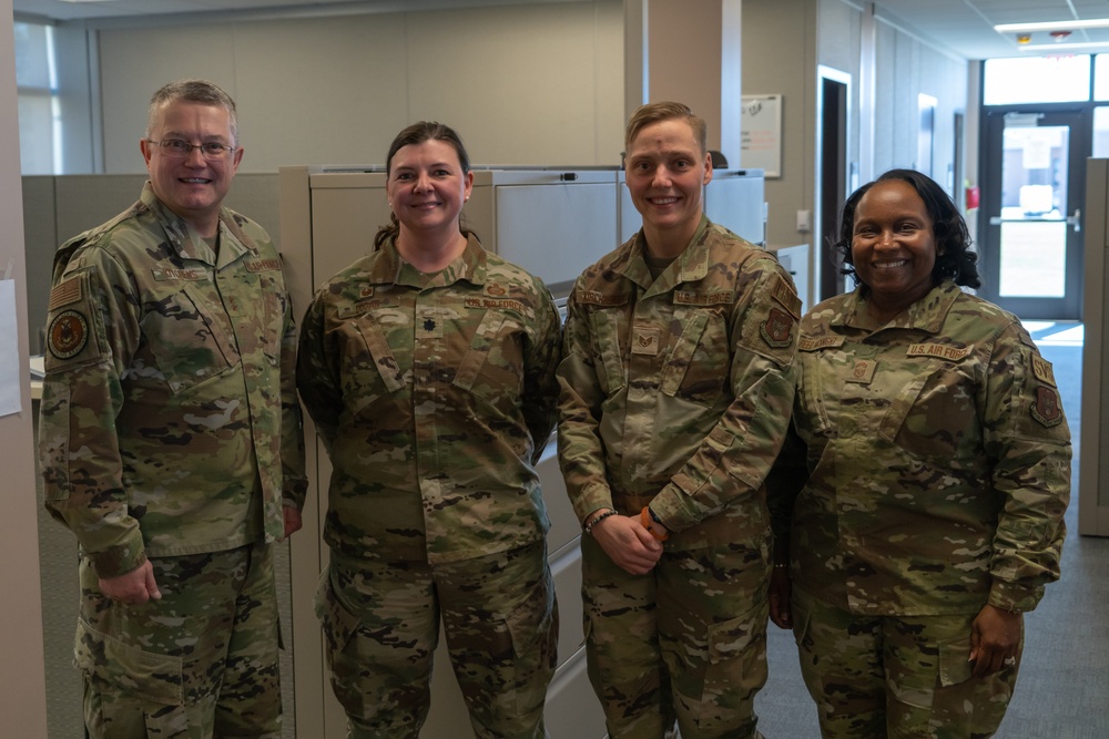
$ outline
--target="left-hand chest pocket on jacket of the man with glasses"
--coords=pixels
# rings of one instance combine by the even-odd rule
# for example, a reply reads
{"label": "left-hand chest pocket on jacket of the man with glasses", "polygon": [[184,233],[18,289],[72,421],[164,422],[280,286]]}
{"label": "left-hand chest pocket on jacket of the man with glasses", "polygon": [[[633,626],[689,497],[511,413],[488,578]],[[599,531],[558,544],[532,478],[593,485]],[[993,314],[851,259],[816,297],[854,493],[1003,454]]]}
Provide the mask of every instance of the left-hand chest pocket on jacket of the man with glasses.
{"label": "left-hand chest pocket on jacket of the man with glasses", "polygon": [[238,351],[222,309],[185,288],[147,309],[140,321],[157,369],[181,393],[238,363]]}

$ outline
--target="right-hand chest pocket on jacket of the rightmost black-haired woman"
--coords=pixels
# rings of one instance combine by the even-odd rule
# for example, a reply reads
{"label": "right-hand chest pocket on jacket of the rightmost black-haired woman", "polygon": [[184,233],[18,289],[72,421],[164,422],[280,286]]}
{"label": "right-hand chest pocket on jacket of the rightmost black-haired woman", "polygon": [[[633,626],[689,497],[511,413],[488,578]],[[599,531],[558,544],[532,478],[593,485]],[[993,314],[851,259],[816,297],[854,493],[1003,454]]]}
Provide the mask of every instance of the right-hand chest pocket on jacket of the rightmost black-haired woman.
{"label": "right-hand chest pocket on jacket of the rightmost black-haired woman", "polygon": [[[905,377],[902,373],[898,377]],[[981,424],[969,362],[936,361],[891,392],[878,435],[914,454],[956,460],[980,449]]]}

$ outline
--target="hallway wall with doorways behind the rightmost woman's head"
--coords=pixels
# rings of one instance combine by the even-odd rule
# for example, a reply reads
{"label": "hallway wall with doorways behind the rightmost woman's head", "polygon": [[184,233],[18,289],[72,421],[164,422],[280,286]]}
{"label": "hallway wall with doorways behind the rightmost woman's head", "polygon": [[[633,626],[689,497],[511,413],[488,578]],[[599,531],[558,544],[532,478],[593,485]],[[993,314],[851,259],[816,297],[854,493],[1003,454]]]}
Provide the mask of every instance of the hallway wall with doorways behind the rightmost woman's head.
{"label": "hallway wall with doorways behind the rightmost woman's head", "polygon": [[[796,229],[797,211],[814,211],[816,70],[851,75],[847,161],[861,161],[862,33],[868,10],[847,0],[744,0],[743,93],[782,95],[782,176],[766,179],[767,242],[774,247],[818,244]],[[967,68],[881,16],[875,23],[873,174],[917,165],[917,95],[937,99],[933,173],[946,185],[954,161],[954,115],[967,110]],[[966,158],[973,151],[968,146]],[[868,178],[867,173],[857,184]],[[813,258],[821,258],[815,249]]]}

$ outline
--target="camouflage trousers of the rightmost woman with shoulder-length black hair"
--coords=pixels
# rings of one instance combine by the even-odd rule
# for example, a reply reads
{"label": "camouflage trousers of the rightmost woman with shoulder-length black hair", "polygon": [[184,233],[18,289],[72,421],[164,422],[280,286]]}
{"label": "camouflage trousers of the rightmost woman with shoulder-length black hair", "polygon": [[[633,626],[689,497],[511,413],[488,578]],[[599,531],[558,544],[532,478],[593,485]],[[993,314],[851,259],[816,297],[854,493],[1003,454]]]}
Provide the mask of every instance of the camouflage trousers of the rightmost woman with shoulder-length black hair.
{"label": "camouflage trousers of the rightmost woman with shoulder-length black hair", "polygon": [[977,614],[855,615],[796,587],[791,608],[801,673],[825,739],[985,739],[997,731],[1020,658],[971,676]]}

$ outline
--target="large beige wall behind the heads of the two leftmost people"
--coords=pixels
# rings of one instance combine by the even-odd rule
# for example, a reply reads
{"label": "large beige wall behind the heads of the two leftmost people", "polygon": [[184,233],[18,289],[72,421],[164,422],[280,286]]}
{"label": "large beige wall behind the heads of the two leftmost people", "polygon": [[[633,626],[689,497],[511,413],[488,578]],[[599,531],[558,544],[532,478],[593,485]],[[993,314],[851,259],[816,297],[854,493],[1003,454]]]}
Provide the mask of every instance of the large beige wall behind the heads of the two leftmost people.
{"label": "large beige wall behind the heads of the two leftmost people", "polygon": [[623,148],[620,0],[98,35],[108,173],[143,171],[150,94],[183,76],[235,97],[243,172],[380,163],[397,131],[421,119],[457,129],[481,164],[619,164]]}

